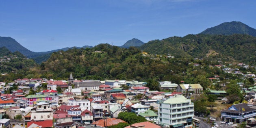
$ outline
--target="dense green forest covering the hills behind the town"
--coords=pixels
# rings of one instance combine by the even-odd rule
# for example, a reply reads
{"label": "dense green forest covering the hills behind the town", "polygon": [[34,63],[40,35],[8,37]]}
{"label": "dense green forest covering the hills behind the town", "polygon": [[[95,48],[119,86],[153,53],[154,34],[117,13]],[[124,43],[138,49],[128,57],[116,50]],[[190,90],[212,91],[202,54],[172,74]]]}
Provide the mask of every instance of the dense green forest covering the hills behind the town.
{"label": "dense green forest covering the hills behind the town", "polygon": [[[150,41],[140,48],[99,44],[93,48],[53,52],[41,64],[22,57],[1,62],[1,73],[7,72],[8,75],[0,77],[0,80],[67,80],[72,73],[74,78],[84,80],[138,80],[152,85],[156,81],[166,80],[177,84],[185,81],[208,87],[208,78],[215,75],[220,76],[221,80],[239,78],[213,65],[225,65],[239,68],[244,74],[255,74],[254,67],[245,69],[236,65],[238,62],[255,65],[255,42],[256,38],[249,35],[187,35]],[[143,55],[142,51],[148,54]],[[14,53],[6,51],[6,54]],[[175,58],[168,58],[170,55]],[[200,66],[194,66],[194,63]]]}

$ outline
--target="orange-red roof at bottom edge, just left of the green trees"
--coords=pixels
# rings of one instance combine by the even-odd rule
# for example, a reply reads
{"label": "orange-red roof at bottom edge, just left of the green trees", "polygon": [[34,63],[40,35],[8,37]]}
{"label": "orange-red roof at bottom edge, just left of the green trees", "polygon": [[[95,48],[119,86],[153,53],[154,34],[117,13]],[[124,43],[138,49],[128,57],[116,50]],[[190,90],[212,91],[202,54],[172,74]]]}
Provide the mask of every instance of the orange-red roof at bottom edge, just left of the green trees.
{"label": "orange-red roof at bottom edge, just left of the green trees", "polygon": [[96,124],[98,126],[105,127],[106,125],[107,126],[112,126],[112,125],[116,125],[118,123],[127,123],[127,122],[123,121],[121,119],[107,118],[106,121],[104,121],[104,119],[100,119],[98,121],[93,122],[92,124]]}

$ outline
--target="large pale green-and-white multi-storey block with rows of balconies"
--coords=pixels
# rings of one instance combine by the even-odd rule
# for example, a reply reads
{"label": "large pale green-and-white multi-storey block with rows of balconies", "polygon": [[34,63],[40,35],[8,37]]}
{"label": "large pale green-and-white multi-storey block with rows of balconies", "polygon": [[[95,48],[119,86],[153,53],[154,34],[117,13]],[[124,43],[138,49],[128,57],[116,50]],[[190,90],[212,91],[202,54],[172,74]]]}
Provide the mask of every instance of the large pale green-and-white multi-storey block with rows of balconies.
{"label": "large pale green-and-white multi-storey block with rows of balconies", "polygon": [[159,124],[170,127],[192,126],[194,116],[194,104],[183,95],[175,95],[164,102],[159,103]]}

